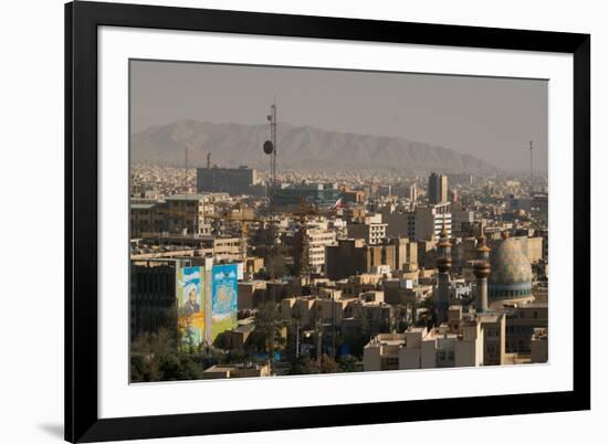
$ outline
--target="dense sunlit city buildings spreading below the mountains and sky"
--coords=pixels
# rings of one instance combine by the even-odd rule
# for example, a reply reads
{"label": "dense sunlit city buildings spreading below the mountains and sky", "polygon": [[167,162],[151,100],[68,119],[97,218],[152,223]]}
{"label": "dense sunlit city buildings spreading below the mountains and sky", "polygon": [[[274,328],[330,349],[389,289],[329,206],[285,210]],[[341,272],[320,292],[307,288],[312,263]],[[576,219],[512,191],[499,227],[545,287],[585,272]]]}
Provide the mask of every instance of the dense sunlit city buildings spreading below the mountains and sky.
{"label": "dense sunlit city buildings spreading below the mountains and sky", "polygon": [[548,361],[546,177],[282,169],[274,112],[268,168],[132,163],[132,382]]}

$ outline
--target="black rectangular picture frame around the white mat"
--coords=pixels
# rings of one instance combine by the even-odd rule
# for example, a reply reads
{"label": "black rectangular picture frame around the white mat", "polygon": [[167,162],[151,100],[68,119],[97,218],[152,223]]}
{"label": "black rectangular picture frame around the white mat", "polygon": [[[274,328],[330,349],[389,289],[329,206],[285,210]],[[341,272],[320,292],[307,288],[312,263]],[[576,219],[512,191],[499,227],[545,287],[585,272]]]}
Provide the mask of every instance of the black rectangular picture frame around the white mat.
{"label": "black rectangular picture frame around the white mat", "polygon": [[[574,56],[574,390],[99,419],[97,28],[560,52]],[[65,6],[65,440],[188,436],[590,409],[590,35],[77,1]]]}

